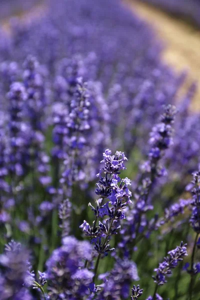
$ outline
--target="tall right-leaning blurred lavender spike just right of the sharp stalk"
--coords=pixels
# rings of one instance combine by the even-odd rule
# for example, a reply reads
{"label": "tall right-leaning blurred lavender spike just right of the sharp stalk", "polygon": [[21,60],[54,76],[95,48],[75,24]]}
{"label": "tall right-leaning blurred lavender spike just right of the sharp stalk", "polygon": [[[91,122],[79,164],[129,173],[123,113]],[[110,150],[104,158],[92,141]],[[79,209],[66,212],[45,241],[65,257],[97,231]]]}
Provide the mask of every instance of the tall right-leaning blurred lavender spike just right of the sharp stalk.
{"label": "tall right-leaning blurred lavender spike just right of the sharp stalk", "polygon": [[149,144],[151,148],[148,152],[148,160],[141,166],[144,175],[141,175],[141,182],[136,185],[134,192],[136,201],[128,212],[122,241],[119,242],[121,248],[126,247],[125,255],[127,256],[131,256],[133,247],[139,240],[138,235],[144,232],[148,224],[146,212],[153,209],[149,193],[154,181],[157,177],[166,173],[165,169],[160,166],[160,159],[164,155],[165,150],[172,144],[172,123],[175,113],[175,106],[166,105],[164,112],[160,116],[160,122],[150,132]]}

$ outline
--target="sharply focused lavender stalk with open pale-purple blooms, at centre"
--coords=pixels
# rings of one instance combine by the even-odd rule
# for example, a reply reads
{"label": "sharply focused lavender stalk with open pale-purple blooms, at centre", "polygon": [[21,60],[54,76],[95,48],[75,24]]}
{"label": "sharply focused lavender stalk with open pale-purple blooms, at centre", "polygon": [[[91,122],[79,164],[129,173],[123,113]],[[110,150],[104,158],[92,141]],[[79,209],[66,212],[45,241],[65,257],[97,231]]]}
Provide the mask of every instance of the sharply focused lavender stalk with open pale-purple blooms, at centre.
{"label": "sharply focused lavender stalk with open pale-purple blooms, at centre", "polygon": [[[101,256],[114,250],[114,248],[109,247],[109,238],[120,229],[118,221],[125,218],[123,209],[127,203],[131,202],[131,192],[127,187],[130,185],[130,180],[127,177],[124,179],[119,177],[120,170],[125,169],[124,161],[127,160],[124,153],[116,151],[115,155],[111,155],[111,151],[106,149],[103,156],[104,159],[101,162],[104,163],[104,166],[97,174],[99,181],[96,183],[97,188],[95,190],[95,193],[100,197],[96,200],[96,208],[89,203],[94,212],[95,220],[92,226],[86,221],[80,225],[85,235],[90,236],[91,242],[95,242],[94,249],[98,252],[92,280],[94,283]],[[105,215],[109,218],[103,223],[99,221],[96,226],[98,218]]]}

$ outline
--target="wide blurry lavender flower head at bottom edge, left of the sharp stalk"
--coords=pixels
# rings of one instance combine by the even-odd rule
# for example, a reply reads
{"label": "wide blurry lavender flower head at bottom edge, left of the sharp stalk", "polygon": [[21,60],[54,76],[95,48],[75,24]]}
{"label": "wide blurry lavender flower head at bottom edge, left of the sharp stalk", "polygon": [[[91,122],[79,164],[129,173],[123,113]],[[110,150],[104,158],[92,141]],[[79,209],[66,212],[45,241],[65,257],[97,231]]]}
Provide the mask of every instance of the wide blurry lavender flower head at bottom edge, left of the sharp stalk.
{"label": "wide blurry lavender flower head at bottom edge, left of the sharp stalk", "polygon": [[84,268],[84,259],[91,259],[91,247],[86,241],[67,236],[46,262],[50,299],[83,298],[89,294],[93,273]]}

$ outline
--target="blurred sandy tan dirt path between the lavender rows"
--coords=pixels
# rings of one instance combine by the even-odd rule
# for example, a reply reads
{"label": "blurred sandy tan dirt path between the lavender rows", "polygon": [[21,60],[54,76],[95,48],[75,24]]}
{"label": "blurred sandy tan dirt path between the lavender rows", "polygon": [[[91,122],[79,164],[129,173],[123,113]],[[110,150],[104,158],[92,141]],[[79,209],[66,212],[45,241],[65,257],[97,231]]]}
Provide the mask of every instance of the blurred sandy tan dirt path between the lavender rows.
{"label": "blurred sandy tan dirt path between the lavender rows", "polygon": [[148,21],[166,43],[163,59],[176,70],[188,69],[189,75],[185,84],[197,80],[198,91],[193,100],[192,108],[200,108],[200,29],[184,21],[170,16],[151,5],[126,0],[127,4],[140,17]]}

